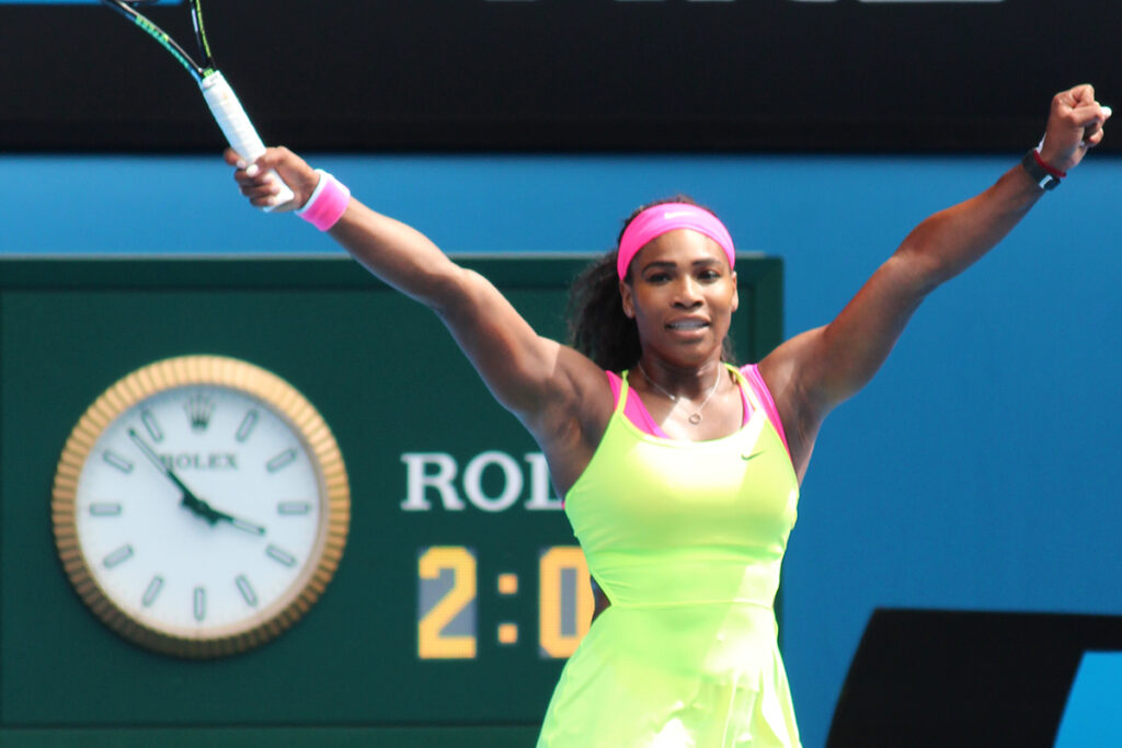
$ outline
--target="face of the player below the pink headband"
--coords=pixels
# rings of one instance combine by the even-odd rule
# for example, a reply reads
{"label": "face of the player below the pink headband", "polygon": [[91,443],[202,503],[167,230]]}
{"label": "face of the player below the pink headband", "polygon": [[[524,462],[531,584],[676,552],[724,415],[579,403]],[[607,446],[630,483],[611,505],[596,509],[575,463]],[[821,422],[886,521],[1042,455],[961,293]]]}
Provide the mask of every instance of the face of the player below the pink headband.
{"label": "face of the player below the pink headband", "polygon": [[631,278],[619,289],[644,351],[683,364],[720,357],[739,298],[736,273],[717,242],[688,229],[669,231],[635,255]]}

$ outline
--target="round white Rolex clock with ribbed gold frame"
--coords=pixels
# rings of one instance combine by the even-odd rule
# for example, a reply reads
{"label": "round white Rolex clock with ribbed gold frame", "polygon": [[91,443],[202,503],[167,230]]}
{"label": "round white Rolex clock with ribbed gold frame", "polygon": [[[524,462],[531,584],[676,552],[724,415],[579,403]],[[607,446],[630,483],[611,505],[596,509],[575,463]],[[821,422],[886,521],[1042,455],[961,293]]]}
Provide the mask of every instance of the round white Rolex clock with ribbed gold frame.
{"label": "round white Rolex clock with ribbed gold frame", "polygon": [[77,422],[55,474],[70,581],[127,639],[214,657],[263,644],[316,601],[347,542],[330,428],[291,385],[213,355],[151,363]]}

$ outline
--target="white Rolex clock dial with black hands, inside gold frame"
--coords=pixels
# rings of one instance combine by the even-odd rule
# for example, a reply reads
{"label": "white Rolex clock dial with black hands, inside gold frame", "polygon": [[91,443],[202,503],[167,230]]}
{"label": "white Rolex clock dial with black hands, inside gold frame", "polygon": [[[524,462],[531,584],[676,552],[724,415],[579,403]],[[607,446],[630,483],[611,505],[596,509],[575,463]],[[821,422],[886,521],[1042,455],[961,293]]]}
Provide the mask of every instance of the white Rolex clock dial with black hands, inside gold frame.
{"label": "white Rolex clock dial with black hands, inside gold frame", "polygon": [[129,617],[214,635],[285,600],[315,557],[323,493],[306,445],[259,400],[178,387],[135,405],[94,444],[79,479],[79,543]]}

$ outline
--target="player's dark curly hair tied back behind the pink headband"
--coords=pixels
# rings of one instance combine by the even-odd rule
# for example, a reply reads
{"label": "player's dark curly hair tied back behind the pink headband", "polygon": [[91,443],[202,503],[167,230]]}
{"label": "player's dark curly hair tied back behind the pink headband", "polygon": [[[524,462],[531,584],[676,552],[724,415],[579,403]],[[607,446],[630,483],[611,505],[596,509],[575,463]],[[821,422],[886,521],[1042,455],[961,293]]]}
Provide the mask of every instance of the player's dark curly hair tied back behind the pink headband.
{"label": "player's dark curly hair tied back behind the pink headband", "polygon": [[[689,203],[714,213],[689,195],[673,195],[656,200],[635,209],[624,221],[616,247],[594,260],[577,276],[569,288],[569,344],[590,358],[601,369],[623,371],[631,369],[643,353],[635,321],[624,314],[619,279],[616,275],[616,259],[619,257],[619,241],[627,227],[640,213],[664,203]],[[716,213],[714,213],[716,215]],[[631,268],[624,283],[632,283]],[[721,358],[735,362],[732,341],[726,336]]]}

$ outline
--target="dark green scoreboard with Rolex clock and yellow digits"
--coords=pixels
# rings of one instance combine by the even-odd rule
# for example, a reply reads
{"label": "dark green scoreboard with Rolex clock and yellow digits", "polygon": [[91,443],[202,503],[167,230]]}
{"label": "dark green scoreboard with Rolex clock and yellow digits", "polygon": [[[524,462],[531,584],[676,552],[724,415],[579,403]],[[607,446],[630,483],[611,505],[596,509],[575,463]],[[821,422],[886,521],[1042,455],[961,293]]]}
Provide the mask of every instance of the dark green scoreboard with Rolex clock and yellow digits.
{"label": "dark green scoreboard with Rolex clock and yellow digits", "polygon": [[[563,338],[589,258],[459,260]],[[0,260],[3,746],[531,745],[590,613],[533,440],[350,260]]]}

